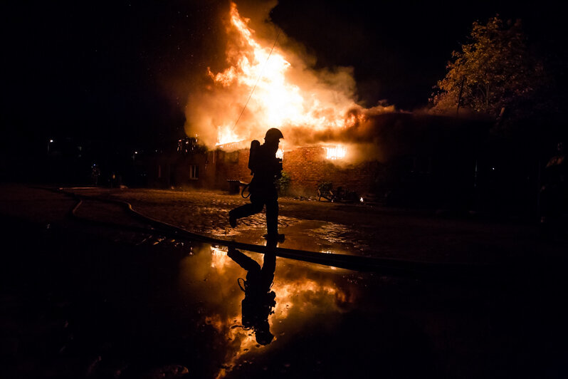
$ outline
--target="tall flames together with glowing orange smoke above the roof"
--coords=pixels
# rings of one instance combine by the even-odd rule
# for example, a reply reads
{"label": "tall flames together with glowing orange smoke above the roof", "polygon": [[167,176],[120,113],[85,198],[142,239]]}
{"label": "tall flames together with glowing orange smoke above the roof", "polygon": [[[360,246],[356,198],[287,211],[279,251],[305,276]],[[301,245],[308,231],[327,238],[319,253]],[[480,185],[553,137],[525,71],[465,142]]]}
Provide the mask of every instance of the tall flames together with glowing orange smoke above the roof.
{"label": "tall flames together with glowing orange smoke above the roof", "polygon": [[[364,117],[350,112],[361,108],[353,100],[351,69],[310,70],[298,54],[279,43],[263,46],[235,3],[229,16],[228,67],[220,72],[208,68],[212,83],[190,95],[188,133],[199,133],[208,145],[221,145],[259,139],[268,128],[282,128],[292,147],[301,143],[298,135],[306,130],[349,128],[359,121],[354,118]],[[276,34],[273,41],[278,41]]]}

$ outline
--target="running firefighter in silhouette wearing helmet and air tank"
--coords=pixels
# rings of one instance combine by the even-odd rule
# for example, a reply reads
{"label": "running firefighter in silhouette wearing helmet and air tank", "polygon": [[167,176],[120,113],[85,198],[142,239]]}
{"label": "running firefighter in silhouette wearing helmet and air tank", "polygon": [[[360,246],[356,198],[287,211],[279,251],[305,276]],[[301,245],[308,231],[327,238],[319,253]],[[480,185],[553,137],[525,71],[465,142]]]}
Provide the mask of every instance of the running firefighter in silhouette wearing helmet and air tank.
{"label": "running firefighter in silhouette wearing helmet and air tank", "polygon": [[280,138],[284,138],[280,130],[271,128],[266,132],[263,145],[256,140],[251,143],[248,162],[253,175],[248,187],[251,204],[242,205],[228,213],[231,227],[236,227],[237,219],[261,212],[266,206],[267,237],[284,237],[284,234],[278,234],[278,190],[275,184],[275,180],[282,177],[282,161],[276,157]]}

